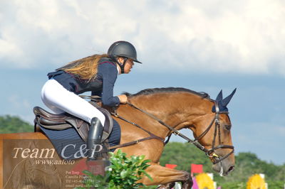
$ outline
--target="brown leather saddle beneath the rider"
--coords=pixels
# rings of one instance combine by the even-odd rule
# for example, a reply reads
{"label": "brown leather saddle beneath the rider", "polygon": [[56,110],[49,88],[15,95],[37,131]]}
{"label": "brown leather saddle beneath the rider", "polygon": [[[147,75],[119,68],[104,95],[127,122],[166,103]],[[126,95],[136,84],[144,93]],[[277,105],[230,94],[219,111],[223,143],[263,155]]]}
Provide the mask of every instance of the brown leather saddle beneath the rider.
{"label": "brown leather saddle beneath the rider", "polygon": [[[99,105],[95,102],[91,101],[90,104],[105,115],[104,131],[101,139],[101,142],[103,142],[108,139],[108,136],[113,129],[113,119],[108,110],[104,109],[103,107],[99,107]],[[78,132],[79,136],[81,136],[81,139],[87,142],[90,124],[86,121],[83,121],[82,119],[74,117],[68,113],[52,114],[41,107],[34,107],[33,114],[36,115],[36,118],[34,119],[35,131],[40,131],[41,128],[39,126],[58,131],[73,127]]]}

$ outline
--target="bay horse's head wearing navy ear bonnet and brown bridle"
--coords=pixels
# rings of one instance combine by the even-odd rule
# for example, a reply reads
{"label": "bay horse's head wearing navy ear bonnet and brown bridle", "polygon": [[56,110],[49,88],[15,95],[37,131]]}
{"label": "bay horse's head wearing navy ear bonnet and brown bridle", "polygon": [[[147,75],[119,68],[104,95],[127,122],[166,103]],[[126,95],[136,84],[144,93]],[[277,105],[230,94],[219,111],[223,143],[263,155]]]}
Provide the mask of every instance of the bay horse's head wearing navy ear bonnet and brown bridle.
{"label": "bay horse's head wearing navy ear bonnet and brown bridle", "polygon": [[[227,175],[234,170],[234,146],[232,146],[231,121],[227,104],[234,95],[222,98],[219,92],[216,100],[210,100],[205,107],[206,114],[197,117],[190,128],[195,136],[195,141],[202,144],[203,151],[213,163],[213,170],[220,175]],[[209,107],[211,106],[211,107]],[[212,109],[212,112],[209,112]]]}

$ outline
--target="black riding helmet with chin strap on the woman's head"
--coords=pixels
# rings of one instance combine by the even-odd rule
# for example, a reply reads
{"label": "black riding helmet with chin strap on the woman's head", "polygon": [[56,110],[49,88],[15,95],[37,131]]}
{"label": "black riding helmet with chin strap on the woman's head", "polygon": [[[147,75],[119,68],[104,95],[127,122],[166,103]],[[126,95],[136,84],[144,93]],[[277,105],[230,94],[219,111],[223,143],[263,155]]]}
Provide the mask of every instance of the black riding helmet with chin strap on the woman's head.
{"label": "black riding helmet with chin strap on the woman's head", "polygon": [[116,57],[125,58],[123,65],[118,63],[122,73],[124,73],[125,63],[128,60],[128,58],[132,59],[137,63],[141,63],[137,59],[137,51],[135,50],[135,47],[128,41],[117,41],[112,45],[110,45],[110,48],[108,49],[108,55],[110,58],[115,60],[116,63],[118,63]]}

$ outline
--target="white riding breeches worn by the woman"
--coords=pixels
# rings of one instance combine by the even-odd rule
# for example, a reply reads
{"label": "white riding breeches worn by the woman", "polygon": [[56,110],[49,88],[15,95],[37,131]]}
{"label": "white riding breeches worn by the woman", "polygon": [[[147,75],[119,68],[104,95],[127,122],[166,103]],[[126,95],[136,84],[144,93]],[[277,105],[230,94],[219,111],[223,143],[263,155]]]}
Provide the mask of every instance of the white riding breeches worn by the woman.
{"label": "white riding breeches worn by the woman", "polygon": [[104,126],[105,116],[92,104],[66,90],[56,80],[48,80],[41,90],[41,99],[46,106],[56,114],[67,112],[75,117],[81,118],[88,123],[93,117],[98,117]]}

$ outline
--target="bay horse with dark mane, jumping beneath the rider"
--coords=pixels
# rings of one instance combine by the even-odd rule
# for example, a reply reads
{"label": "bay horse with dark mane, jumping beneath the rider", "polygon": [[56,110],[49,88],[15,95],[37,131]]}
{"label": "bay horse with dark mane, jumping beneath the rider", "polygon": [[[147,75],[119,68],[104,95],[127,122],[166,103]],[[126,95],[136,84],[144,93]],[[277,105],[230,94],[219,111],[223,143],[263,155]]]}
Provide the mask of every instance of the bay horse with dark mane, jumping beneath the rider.
{"label": "bay horse with dark mane, jumping beneath the rider", "polygon": [[[227,109],[234,92],[224,99],[222,91],[217,99],[211,99],[206,93],[175,87],[147,89],[135,95],[126,93],[128,103],[120,104],[113,118],[121,127],[120,144],[136,142],[117,148],[116,151],[121,149],[128,156],[145,155],[145,159],[150,159],[150,166],[146,171],[152,180],[142,178],[140,181],[145,185],[172,188],[178,181],[182,182],[182,188],[191,188],[190,173],[159,164],[165,146],[163,141],[167,136],[177,134],[204,151],[212,161],[214,171],[227,175],[234,170],[234,146],[230,131],[232,124]],[[179,132],[180,129],[191,129],[195,139],[187,138]],[[47,139],[40,132],[1,134],[0,137],[1,147],[5,139]],[[46,144],[51,145],[49,141]],[[3,158],[0,159],[0,174],[3,173]],[[2,174],[0,185],[5,185],[3,176]]]}

